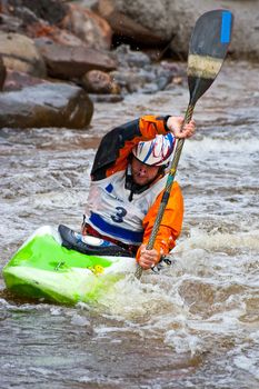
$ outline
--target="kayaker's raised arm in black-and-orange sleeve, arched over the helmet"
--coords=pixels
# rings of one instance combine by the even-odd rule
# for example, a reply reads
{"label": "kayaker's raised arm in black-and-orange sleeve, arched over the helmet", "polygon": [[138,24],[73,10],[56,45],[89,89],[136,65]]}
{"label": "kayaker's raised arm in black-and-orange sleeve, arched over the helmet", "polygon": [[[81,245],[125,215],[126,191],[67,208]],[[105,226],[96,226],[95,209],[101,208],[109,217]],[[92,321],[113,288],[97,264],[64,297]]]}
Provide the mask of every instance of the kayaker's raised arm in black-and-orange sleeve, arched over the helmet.
{"label": "kayaker's raised arm in black-and-orange sleeve, arched over the helmet", "polygon": [[150,140],[156,134],[166,134],[169,131],[168,118],[169,116],[145,116],[108,132],[97,150],[91,170],[92,180],[97,181],[126,169],[128,157],[139,141]]}

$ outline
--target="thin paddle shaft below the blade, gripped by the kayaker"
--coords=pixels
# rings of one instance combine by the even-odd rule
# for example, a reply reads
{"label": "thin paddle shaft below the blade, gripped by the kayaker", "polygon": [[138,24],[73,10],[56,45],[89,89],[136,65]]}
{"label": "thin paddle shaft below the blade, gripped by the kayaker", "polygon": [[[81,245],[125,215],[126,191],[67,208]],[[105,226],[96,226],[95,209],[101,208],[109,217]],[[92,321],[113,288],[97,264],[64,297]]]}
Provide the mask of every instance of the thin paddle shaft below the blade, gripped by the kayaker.
{"label": "thin paddle shaft below the blade, gripped by the kayaker", "polygon": [[[187,111],[186,111],[182,128],[185,127],[185,124],[190,122],[190,120],[192,118],[193,109],[195,109],[195,106],[189,103]],[[157,213],[157,217],[156,217],[156,220],[153,223],[153,228],[152,228],[152,231],[151,231],[148,245],[147,245],[147,250],[152,250],[155,241],[157,239],[158,230],[160,228],[162,217],[163,217],[163,213],[165,213],[165,210],[166,210],[169,197],[170,197],[171,187],[172,187],[172,183],[175,181],[175,177],[176,177],[178,163],[179,163],[179,160],[181,157],[181,150],[183,148],[183,144],[185,144],[185,139],[178,139],[176,151],[173,154],[173,159],[172,159],[170,170],[168,173],[168,179],[166,182],[165,192],[163,192],[163,196],[162,196],[159,209],[158,209],[158,213]],[[140,279],[142,271],[143,271],[143,269],[141,268],[140,265],[138,265],[136,273],[135,273],[136,278]]]}

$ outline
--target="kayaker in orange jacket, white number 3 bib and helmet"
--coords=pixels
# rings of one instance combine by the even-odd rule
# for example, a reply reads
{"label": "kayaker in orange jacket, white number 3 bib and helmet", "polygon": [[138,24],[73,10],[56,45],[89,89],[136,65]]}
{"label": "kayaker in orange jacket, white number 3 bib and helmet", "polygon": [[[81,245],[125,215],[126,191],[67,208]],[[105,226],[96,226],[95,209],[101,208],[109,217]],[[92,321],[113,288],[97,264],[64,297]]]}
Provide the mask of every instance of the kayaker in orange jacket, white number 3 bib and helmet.
{"label": "kayaker in orange jacket, white number 3 bib and helmet", "polygon": [[183,218],[183,199],[173,182],[156,243],[147,250],[167,181],[176,138],[189,138],[195,121],[181,131],[183,118],[145,116],[108,132],[97,150],[83,216],[82,233],[135,252],[149,269],[175,246]]}

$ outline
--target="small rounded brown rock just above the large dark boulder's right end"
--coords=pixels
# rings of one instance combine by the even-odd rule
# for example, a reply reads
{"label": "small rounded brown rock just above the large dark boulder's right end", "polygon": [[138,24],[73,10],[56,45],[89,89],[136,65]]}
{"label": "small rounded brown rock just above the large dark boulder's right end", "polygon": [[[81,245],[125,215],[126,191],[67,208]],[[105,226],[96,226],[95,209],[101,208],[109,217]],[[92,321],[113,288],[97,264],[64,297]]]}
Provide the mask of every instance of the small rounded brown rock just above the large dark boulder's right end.
{"label": "small rounded brown rock just above the large dark boulder's right end", "polygon": [[89,93],[97,94],[119,94],[120,87],[113,81],[113,78],[100,70],[90,70],[81,79],[82,87]]}

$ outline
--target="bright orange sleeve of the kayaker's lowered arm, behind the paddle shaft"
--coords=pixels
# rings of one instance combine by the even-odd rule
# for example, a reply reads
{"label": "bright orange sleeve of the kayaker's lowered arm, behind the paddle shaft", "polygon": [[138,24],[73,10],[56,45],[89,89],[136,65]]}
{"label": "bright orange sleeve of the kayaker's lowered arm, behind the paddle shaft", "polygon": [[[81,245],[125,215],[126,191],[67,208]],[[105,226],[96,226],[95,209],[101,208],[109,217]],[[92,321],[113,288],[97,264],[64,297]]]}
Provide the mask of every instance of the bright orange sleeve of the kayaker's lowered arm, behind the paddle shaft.
{"label": "bright orange sleeve of the kayaker's lowered arm, behind the paddle shaft", "polygon": [[[155,203],[149,209],[148,213],[143,219],[143,243],[147,245],[149,237],[152,231],[152,227],[158,213],[160,201],[162,198],[163,191],[157,197]],[[161,220],[161,225],[158,230],[156,242],[153,248],[158,250],[161,255],[167,255],[175,246],[176,239],[181,232],[183,220],[183,198],[181,189],[177,182],[173,182],[170,197]],[[140,249],[137,252],[137,260],[140,257]]]}

